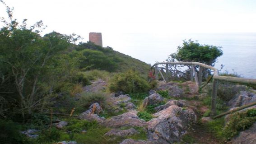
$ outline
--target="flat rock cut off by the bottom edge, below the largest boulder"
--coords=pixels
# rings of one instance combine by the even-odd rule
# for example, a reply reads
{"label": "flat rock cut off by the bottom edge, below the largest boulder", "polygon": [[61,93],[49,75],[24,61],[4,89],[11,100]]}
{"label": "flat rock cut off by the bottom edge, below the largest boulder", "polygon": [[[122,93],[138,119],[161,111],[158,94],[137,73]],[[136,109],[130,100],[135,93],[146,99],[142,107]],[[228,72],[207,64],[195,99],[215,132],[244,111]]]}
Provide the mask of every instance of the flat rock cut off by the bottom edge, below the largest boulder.
{"label": "flat rock cut off by the bottom edge, below the largest boulder", "polygon": [[120,144],[169,144],[163,139],[158,140],[134,140],[134,139],[125,139]]}

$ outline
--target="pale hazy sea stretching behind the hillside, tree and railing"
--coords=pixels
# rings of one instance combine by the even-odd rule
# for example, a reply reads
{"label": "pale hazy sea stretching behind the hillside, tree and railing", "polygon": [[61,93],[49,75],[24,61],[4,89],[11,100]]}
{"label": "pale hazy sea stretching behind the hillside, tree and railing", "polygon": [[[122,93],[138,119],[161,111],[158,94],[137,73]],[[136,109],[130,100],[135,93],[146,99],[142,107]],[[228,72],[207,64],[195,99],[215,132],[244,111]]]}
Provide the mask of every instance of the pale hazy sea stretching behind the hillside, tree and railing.
{"label": "pale hazy sea stretching behind the hillside, tree and railing", "polygon": [[113,48],[153,65],[165,61],[185,39],[221,46],[223,55],[214,65],[219,70],[224,65],[220,73],[256,79],[256,33],[125,33],[118,37],[120,46]]}

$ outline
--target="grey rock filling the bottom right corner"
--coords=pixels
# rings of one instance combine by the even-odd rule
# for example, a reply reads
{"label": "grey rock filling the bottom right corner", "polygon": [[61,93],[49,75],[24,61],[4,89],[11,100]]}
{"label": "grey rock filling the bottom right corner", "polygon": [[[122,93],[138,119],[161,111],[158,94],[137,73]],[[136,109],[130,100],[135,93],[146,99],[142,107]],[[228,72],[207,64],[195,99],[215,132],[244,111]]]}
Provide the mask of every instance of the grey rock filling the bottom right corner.
{"label": "grey rock filling the bottom right corner", "polygon": [[256,143],[256,123],[232,140],[232,144],[255,144]]}

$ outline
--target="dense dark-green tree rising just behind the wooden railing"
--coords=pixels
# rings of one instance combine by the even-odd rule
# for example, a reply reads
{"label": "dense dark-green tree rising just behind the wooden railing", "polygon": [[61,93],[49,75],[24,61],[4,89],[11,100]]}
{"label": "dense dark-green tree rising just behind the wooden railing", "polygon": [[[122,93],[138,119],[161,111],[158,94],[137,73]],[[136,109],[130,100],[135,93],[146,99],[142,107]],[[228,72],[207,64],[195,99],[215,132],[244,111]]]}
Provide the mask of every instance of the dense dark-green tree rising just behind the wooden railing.
{"label": "dense dark-green tree rising just behind the wooden railing", "polygon": [[183,40],[182,46],[178,46],[177,52],[172,53],[168,61],[195,61],[214,66],[217,57],[222,56],[220,46],[201,45],[197,41]]}

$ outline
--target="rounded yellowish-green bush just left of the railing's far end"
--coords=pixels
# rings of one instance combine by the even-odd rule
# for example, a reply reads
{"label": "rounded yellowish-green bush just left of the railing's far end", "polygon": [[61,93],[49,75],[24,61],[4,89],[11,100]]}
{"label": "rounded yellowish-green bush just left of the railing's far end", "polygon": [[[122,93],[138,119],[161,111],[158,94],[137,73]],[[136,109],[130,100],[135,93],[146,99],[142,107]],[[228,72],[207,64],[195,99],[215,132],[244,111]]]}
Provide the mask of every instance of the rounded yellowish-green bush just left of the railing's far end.
{"label": "rounded yellowish-green bush just left of the railing's far end", "polygon": [[114,75],[109,84],[111,92],[141,93],[147,92],[149,88],[149,83],[135,70]]}

